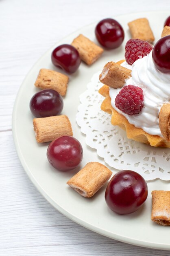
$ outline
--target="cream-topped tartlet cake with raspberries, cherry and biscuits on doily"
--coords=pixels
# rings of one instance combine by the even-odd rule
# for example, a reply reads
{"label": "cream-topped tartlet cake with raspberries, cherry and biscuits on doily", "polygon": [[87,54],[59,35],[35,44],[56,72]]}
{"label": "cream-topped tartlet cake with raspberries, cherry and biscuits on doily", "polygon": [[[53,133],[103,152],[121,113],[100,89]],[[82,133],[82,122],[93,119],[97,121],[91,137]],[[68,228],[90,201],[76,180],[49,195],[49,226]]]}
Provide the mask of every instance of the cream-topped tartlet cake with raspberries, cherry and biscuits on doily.
{"label": "cream-topped tartlet cake with raspberries, cherry and biscuits on doily", "polygon": [[[105,97],[101,109],[112,115],[111,124],[126,130],[128,138],[155,147],[170,148],[170,36],[161,38],[156,43],[155,49],[152,47],[149,49],[149,44],[145,42],[148,45],[144,45],[144,47],[148,47],[149,50],[145,53],[145,48],[140,48],[143,50],[143,52],[141,50],[143,55],[140,52],[140,56],[137,50],[135,54],[132,54],[134,50],[127,49],[127,47],[134,49],[135,45],[137,49],[138,42],[133,39],[129,41],[125,47],[126,61],[109,62],[100,74],[100,81],[105,84],[99,90],[99,93]],[[159,48],[163,44],[168,45],[168,53],[166,53],[166,57],[162,58],[165,65],[161,61],[157,62],[161,56],[155,57],[155,52],[157,53],[158,50],[160,52]],[[137,54],[138,57],[136,57]],[[116,104],[118,94],[121,94],[121,90],[129,85],[137,86],[143,91],[143,101],[140,102],[137,113],[134,112],[134,109],[129,112],[130,114],[126,112],[128,104],[130,105],[127,108],[131,108],[132,99],[121,98],[122,101],[118,102],[119,105]],[[130,111],[129,109],[128,111]]]}

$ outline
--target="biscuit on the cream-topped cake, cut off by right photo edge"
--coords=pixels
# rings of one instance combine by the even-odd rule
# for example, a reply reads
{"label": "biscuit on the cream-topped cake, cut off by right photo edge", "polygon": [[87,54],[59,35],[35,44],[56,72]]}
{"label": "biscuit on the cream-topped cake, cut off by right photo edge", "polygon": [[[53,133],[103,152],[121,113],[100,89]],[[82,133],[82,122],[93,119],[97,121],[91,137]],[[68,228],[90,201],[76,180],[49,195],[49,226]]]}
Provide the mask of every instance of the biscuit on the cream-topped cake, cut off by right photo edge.
{"label": "biscuit on the cream-topped cake, cut off by right photo edge", "polygon": [[159,128],[163,138],[170,141],[170,103],[162,105],[159,112]]}

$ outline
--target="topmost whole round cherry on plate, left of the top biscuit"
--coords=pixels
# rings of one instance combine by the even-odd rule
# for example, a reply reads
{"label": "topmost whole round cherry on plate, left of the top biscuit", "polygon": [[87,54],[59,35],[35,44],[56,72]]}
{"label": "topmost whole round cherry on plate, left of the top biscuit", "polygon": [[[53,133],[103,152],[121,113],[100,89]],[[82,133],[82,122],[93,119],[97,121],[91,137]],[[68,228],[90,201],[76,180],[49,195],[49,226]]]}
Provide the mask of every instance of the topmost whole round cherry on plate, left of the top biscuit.
{"label": "topmost whole round cherry on plate, left of the top biscuit", "polygon": [[111,18],[98,22],[95,34],[98,42],[106,48],[115,49],[124,40],[124,30],[118,21]]}

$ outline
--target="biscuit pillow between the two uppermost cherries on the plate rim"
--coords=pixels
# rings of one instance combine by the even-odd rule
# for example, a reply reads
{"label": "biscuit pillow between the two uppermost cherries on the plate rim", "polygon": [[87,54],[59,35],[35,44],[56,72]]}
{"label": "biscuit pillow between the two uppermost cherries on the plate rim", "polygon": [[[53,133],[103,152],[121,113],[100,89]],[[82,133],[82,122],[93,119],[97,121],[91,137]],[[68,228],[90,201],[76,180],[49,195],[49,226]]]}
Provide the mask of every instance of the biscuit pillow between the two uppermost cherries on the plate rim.
{"label": "biscuit pillow between the two uppermost cherries on the plate rim", "polygon": [[87,65],[94,63],[104,51],[101,47],[81,34],[72,41],[71,45],[77,49],[81,60]]}

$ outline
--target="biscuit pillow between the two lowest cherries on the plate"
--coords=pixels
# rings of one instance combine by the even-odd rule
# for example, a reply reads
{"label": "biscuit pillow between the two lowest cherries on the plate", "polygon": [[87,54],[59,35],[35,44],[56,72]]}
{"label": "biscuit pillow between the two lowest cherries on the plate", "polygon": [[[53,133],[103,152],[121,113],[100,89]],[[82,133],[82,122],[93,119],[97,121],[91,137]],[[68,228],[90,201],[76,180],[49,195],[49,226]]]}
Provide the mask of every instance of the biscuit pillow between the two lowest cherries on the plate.
{"label": "biscuit pillow between the two lowest cherries on the plate", "polygon": [[111,175],[112,172],[105,165],[90,162],[67,184],[80,195],[90,198],[109,180]]}

